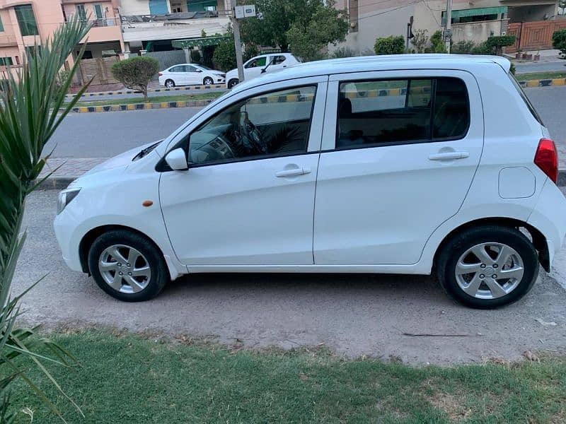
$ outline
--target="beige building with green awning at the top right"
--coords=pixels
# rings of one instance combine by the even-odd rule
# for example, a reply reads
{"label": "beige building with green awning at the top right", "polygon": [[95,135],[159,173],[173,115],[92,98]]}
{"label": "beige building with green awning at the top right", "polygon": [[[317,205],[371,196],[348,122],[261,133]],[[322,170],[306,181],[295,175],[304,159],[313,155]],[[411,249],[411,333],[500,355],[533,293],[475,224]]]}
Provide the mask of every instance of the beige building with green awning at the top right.
{"label": "beige building with green awning at the top right", "polygon": [[[343,45],[359,52],[372,50],[377,37],[407,35],[413,30],[432,35],[444,27],[446,0],[338,0],[337,8],[350,15],[350,33]],[[558,13],[556,0],[454,0],[453,40],[482,42],[490,35],[503,35],[512,22],[552,19]]]}

